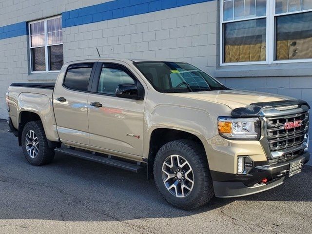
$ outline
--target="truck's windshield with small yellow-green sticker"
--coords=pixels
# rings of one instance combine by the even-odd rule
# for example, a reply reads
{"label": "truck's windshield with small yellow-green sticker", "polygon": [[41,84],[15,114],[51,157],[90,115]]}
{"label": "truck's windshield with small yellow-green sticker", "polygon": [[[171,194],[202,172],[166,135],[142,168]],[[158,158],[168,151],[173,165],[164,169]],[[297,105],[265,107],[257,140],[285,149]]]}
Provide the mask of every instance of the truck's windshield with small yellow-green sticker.
{"label": "truck's windshield with small yellow-green sticker", "polygon": [[137,68],[161,93],[225,90],[225,86],[195,66],[183,62],[135,62]]}

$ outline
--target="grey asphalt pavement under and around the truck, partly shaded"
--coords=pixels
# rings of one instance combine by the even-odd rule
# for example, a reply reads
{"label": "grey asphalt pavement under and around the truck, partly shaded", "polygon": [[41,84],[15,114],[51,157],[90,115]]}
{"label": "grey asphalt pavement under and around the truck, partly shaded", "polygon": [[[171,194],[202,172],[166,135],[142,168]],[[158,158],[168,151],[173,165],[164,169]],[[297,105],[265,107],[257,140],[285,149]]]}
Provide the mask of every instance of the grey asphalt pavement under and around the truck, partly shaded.
{"label": "grey asphalt pavement under and around the truck, partly shaded", "polygon": [[272,190],[182,211],[143,174],[61,154],[32,166],[0,120],[0,234],[16,233],[309,234],[312,167]]}

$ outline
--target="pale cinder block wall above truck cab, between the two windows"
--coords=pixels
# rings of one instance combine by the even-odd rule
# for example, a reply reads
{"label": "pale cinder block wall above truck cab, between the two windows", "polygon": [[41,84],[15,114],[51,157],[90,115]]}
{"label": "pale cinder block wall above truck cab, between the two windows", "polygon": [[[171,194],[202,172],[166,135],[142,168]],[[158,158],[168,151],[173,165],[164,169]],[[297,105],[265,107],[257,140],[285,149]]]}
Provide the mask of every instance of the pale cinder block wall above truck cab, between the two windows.
{"label": "pale cinder block wall above truck cab, between the two windows", "polygon": [[216,68],[217,1],[63,29],[64,60],[172,59]]}

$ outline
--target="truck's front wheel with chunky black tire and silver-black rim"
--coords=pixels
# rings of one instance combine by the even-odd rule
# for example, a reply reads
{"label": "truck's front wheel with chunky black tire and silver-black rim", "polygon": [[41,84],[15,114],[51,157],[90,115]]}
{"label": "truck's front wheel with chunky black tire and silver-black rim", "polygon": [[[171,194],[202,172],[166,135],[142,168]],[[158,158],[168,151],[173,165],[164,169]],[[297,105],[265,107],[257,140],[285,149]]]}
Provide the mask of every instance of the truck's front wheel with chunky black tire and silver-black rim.
{"label": "truck's front wheel with chunky black tire and silver-black rim", "polygon": [[159,149],[154,179],[165,200],[180,209],[195,209],[214,196],[206,156],[191,140],[171,141]]}

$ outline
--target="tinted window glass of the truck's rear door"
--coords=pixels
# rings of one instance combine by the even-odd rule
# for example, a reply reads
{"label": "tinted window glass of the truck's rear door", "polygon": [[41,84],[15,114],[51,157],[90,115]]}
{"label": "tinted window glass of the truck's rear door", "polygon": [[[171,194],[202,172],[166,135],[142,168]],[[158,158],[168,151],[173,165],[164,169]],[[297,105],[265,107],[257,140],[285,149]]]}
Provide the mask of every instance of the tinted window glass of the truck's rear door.
{"label": "tinted window glass of the truck's rear door", "polygon": [[93,63],[72,65],[68,68],[64,85],[70,89],[87,91]]}

